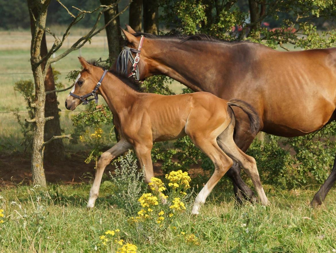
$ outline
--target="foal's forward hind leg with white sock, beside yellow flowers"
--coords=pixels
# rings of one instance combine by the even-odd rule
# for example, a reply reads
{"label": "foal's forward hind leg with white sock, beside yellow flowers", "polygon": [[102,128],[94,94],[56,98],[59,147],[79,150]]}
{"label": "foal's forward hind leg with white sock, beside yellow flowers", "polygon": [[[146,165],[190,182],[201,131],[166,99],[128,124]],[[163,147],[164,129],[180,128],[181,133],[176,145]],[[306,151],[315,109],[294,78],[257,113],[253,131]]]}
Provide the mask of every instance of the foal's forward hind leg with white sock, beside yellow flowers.
{"label": "foal's forward hind leg with white sock, beside yellow flowers", "polygon": [[224,152],[218,146],[216,140],[209,141],[207,139],[204,140],[204,137],[196,138],[193,136],[190,136],[190,138],[194,144],[211,159],[215,166],[214,173],[195,199],[192,214],[197,215],[200,206],[205,203],[205,200],[212,191],[213,187],[218,183],[219,179],[221,179],[225,172],[232,166],[233,161],[224,154]]}

